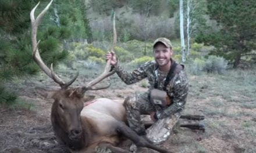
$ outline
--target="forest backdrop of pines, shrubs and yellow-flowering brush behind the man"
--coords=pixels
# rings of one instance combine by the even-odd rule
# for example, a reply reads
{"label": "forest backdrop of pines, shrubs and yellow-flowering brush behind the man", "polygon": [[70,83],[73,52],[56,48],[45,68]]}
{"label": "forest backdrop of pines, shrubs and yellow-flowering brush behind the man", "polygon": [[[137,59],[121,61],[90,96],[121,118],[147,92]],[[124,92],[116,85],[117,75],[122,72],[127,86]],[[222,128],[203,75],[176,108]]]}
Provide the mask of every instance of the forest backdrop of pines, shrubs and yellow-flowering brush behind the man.
{"label": "forest backdrop of pines, shrubs and yellow-flowering brush behind the man", "polygon": [[[0,1],[0,101],[17,96],[5,83],[36,75],[31,57],[29,13],[38,1]],[[101,67],[112,41],[111,14],[116,11],[119,62],[128,69],[153,60],[152,42],[158,37],[173,43],[174,59],[191,75],[224,74],[226,70],[255,70],[256,4],[247,1],[184,0],[183,30],[186,61],[180,46],[178,0],[56,0],[47,13],[38,39],[47,65]],[[41,1],[44,7],[48,1]],[[59,64],[62,62],[62,64]],[[64,64],[63,64],[64,63]],[[90,66],[89,66],[90,65]]]}

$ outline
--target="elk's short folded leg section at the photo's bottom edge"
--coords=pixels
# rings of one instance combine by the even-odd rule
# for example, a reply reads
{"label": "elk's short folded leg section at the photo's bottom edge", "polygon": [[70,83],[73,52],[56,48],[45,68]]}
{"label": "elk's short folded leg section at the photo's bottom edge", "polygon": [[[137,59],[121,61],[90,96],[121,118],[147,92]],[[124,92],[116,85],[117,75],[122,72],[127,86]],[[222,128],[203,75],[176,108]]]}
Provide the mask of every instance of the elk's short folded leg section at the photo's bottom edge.
{"label": "elk's short folded leg section at the photo's bottom edge", "polygon": [[122,148],[115,147],[110,143],[99,144],[96,151],[97,153],[131,153],[130,151],[126,151],[123,150]]}

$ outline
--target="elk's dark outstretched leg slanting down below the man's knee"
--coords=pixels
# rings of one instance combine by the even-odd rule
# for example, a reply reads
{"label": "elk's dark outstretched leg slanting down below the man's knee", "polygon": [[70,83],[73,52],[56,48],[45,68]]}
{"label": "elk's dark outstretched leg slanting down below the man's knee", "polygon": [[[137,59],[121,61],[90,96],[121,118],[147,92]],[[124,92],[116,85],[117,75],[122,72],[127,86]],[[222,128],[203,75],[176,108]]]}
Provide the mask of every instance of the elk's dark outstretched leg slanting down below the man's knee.
{"label": "elk's dark outstretched leg slanting down below the man's knee", "polygon": [[164,150],[160,147],[157,147],[154,144],[149,143],[144,137],[138,136],[136,132],[131,130],[127,125],[123,123],[119,123],[118,127],[116,128],[116,131],[123,136],[127,137],[127,139],[130,139],[135,143],[138,147],[146,147],[146,148],[151,148],[152,150],[161,152],[161,153],[172,153],[168,150]]}

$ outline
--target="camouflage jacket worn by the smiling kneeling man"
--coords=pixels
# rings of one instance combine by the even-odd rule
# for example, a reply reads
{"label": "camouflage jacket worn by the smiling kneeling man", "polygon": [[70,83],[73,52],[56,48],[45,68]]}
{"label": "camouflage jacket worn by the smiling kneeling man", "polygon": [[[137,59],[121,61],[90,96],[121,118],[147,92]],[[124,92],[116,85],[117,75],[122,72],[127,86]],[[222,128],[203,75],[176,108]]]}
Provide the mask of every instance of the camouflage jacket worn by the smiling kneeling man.
{"label": "camouflage jacket worn by the smiling kneeling man", "polygon": [[[157,89],[163,90],[163,84],[168,74],[159,71],[155,61],[147,62],[141,65],[139,68],[137,68],[137,70],[134,70],[133,72],[127,72],[123,70],[123,68],[120,67],[120,65],[116,65],[115,70],[118,76],[127,85],[136,83],[141,79],[148,78],[148,82],[150,83],[149,93],[150,90],[154,89],[155,79],[157,79],[158,81]],[[184,71],[184,66],[178,64],[174,72],[174,77],[166,86],[167,93],[172,99],[172,104],[169,105],[169,107],[162,110],[159,119],[184,110],[184,105],[186,104],[187,94],[189,90],[189,81],[187,79],[186,71]]]}

